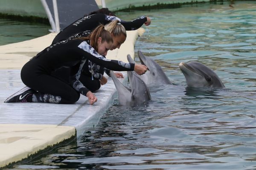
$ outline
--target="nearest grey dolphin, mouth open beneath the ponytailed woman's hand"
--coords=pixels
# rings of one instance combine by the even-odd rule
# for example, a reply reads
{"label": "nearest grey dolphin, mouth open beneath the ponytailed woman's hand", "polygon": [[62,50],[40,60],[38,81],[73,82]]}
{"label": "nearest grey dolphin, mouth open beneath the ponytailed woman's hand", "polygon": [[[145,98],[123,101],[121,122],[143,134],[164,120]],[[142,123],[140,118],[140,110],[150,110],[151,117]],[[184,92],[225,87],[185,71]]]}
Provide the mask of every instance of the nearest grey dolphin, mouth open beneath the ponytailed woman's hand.
{"label": "nearest grey dolphin, mouth open beneath the ponytailed woman's hand", "polygon": [[[134,62],[128,54],[127,59],[129,62]],[[131,61],[132,60],[132,61]],[[130,80],[131,89],[125,87],[117,78],[113,71],[110,71],[111,78],[116,86],[118,100],[120,105],[143,105],[151,99],[149,90],[145,82],[134,71],[127,71]]]}

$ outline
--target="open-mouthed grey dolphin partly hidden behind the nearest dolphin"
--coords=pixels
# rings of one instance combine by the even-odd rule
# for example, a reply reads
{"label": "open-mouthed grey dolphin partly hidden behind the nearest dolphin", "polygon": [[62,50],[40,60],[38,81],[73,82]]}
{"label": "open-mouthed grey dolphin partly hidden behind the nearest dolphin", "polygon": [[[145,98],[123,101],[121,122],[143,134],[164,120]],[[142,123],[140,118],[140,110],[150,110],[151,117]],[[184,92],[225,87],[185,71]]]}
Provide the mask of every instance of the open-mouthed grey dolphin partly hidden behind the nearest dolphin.
{"label": "open-mouthed grey dolphin partly hidden behind the nearest dolphin", "polygon": [[147,85],[167,85],[172,84],[163,69],[154,59],[145,56],[141,51],[138,51],[138,56],[141,64],[148,67],[148,71],[141,75],[141,78]]}

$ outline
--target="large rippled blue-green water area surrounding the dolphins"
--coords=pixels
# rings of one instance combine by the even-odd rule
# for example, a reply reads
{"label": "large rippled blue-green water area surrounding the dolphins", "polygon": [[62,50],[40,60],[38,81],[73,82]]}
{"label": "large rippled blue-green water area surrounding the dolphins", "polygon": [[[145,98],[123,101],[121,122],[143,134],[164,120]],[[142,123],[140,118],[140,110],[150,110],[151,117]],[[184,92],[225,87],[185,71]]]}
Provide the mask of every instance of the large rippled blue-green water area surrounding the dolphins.
{"label": "large rippled blue-green water area surrounding the dolphins", "polygon": [[[119,12],[152,19],[136,42],[175,85],[150,88],[141,107],[118,105],[77,142],[13,169],[254,170],[256,169],[256,1],[229,6]],[[198,61],[226,88],[189,91],[178,68]]]}

